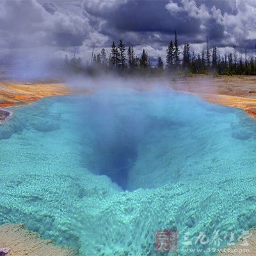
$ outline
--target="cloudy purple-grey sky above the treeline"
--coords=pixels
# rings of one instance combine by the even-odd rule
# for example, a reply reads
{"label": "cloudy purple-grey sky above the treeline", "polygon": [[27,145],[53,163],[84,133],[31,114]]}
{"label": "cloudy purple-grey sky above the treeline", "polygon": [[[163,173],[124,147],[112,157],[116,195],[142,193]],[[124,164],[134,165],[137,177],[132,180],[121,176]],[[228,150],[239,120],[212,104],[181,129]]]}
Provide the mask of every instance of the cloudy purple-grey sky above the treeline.
{"label": "cloudy purple-grey sky above the treeline", "polygon": [[255,0],[0,0],[0,58],[74,54],[90,60],[120,38],[164,57],[177,30],[201,51],[208,36],[220,51],[255,49]]}

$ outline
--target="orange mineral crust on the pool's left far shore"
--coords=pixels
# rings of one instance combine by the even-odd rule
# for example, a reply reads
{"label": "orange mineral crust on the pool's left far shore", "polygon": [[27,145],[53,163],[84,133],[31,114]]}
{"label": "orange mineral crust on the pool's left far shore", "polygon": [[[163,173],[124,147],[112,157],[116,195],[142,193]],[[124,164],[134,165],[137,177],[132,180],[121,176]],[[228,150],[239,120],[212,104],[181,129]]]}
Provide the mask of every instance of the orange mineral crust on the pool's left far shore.
{"label": "orange mineral crust on the pool's left far shore", "polygon": [[0,108],[28,104],[43,97],[67,95],[70,90],[61,83],[11,83],[0,81]]}

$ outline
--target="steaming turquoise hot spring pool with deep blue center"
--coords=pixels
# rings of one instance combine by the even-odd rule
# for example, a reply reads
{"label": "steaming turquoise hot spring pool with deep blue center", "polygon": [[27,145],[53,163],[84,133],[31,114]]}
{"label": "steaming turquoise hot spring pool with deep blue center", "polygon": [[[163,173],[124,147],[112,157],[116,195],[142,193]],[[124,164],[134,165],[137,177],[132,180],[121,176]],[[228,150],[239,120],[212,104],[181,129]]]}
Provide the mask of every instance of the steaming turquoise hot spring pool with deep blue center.
{"label": "steaming turquoise hot spring pool with deep blue center", "polygon": [[[159,255],[155,230],[173,228],[179,255],[215,255],[214,231],[223,246],[256,225],[256,122],[239,109],[123,88],[12,111],[0,223],[87,256]],[[183,244],[200,232],[212,243]]]}

